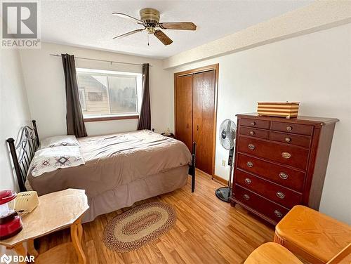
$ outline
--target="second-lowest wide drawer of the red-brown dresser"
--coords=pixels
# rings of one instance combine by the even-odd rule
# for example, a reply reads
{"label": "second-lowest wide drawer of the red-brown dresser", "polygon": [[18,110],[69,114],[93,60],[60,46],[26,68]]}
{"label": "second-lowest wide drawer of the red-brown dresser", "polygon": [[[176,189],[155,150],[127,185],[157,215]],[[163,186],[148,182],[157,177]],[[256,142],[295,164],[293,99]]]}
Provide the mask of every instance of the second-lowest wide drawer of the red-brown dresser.
{"label": "second-lowest wide drawer of the red-brown dresser", "polygon": [[241,170],[237,170],[235,173],[235,183],[289,209],[296,204],[300,204],[302,199],[298,192],[270,183]]}

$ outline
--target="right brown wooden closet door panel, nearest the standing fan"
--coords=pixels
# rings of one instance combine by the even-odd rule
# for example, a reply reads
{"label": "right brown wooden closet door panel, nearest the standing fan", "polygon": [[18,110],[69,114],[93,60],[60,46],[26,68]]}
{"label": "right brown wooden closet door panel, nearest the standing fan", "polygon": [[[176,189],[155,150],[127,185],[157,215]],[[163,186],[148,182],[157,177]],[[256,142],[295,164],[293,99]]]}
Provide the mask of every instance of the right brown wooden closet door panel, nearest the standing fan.
{"label": "right brown wooden closet door panel, nearest the standing fan", "polygon": [[193,138],[197,143],[197,168],[212,175],[215,71],[193,77]]}

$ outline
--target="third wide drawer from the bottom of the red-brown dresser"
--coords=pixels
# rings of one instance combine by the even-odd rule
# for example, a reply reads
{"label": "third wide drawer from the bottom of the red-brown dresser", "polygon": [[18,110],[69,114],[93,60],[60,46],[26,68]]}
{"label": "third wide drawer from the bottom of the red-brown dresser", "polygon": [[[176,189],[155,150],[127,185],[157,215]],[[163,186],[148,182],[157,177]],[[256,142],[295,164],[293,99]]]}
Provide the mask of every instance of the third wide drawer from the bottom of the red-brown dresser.
{"label": "third wide drawer from the bottom of the red-brown dresser", "polygon": [[[256,159],[244,154],[237,154],[237,168],[250,173],[254,173],[274,183],[286,186],[298,192],[303,191],[303,183],[305,181],[305,173],[284,166],[272,164],[262,159]],[[234,172],[236,177],[238,169]]]}

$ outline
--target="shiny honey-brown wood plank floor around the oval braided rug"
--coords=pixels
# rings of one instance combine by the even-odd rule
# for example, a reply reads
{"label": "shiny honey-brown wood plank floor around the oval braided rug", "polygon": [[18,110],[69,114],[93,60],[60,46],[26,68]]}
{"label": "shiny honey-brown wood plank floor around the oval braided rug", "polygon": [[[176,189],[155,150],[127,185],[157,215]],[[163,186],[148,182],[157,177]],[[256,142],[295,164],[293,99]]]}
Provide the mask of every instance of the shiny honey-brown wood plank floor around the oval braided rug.
{"label": "shiny honey-brown wood plank floor around the oval braided rug", "polygon": [[[220,183],[199,171],[196,184],[194,193],[191,193],[189,178],[180,190],[135,204],[154,201],[172,204],[178,217],[170,232],[136,251],[116,253],[102,242],[105,225],[128,209],[98,216],[93,222],[84,224],[82,245],[88,263],[243,263],[256,247],[272,241],[272,226],[240,206],[232,207],[216,198],[214,191],[222,186]],[[37,241],[39,253],[69,242],[69,239],[69,230],[42,237]]]}

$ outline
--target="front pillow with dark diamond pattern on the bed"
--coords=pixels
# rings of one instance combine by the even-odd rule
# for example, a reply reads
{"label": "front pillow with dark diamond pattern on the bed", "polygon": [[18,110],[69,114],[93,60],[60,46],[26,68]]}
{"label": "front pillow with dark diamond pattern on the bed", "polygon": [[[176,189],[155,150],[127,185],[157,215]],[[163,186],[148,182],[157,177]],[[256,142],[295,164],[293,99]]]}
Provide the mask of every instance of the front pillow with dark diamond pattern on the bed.
{"label": "front pillow with dark diamond pattern on the bed", "polygon": [[35,152],[28,173],[37,177],[49,171],[85,164],[79,147],[48,147]]}

